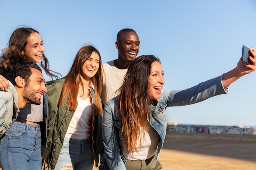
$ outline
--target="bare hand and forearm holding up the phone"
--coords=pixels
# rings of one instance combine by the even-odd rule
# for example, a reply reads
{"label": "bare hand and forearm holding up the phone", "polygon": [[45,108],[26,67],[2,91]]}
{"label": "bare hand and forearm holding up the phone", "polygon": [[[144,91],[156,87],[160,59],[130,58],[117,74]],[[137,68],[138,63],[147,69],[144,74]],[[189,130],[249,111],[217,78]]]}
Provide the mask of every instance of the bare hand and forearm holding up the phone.
{"label": "bare hand and forearm holding up the phone", "polygon": [[256,51],[254,48],[250,48],[250,52],[253,55],[252,57],[249,57],[250,60],[252,61],[252,64],[247,64],[240,59],[239,62],[237,63],[236,68],[223,74],[222,84],[224,88],[227,87],[229,84],[235,82],[243,75],[249,74],[256,70]]}

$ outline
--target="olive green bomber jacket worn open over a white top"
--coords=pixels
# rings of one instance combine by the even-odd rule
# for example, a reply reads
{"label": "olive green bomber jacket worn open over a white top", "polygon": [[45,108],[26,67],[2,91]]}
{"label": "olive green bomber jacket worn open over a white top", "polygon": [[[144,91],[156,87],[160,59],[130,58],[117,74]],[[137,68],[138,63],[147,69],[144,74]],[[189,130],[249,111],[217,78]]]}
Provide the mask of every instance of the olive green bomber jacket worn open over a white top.
{"label": "olive green bomber jacket worn open over a white top", "polygon": [[[48,95],[47,122],[46,122],[46,144],[42,145],[42,157],[47,161],[47,165],[54,168],[61,152],[63,140],[67,128],[74,115],[74,111],[66,109],[69,94],[58,107],[61,91],[65,78],[46,82]],[[95,115],[95,94],[91,88],[90,96],[93,104],[92,117],[92,149],[94,150],[94,160],[96,167],[99,163],[99,155],[103,155],[103,142],[101,132],[102,114]]]}

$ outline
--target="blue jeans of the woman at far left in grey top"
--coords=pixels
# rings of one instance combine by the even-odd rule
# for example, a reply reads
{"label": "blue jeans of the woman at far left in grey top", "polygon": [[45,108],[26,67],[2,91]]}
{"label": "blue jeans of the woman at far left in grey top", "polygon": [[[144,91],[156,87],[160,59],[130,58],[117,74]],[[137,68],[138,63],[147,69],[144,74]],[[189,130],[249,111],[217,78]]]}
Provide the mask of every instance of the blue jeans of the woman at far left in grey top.
{"label": "blue jeans of the woman at far left in grey top", "polygon": [[2,170],[41,170],[39,125],[13,122],[0,140]]}

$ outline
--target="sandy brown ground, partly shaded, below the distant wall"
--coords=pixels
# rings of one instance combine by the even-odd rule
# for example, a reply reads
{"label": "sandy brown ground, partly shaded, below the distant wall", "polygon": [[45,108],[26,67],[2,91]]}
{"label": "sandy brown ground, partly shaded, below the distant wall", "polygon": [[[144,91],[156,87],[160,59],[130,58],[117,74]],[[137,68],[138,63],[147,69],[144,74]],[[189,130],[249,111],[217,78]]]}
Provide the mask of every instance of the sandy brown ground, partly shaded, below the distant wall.
{"label": "sandy brown ground, partly shaded, below the distant wall", "polygon": [[168,133],[159,161],[163,170],[256,170],[256,135]]}

